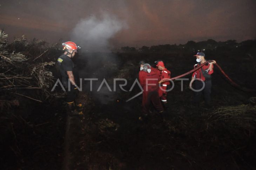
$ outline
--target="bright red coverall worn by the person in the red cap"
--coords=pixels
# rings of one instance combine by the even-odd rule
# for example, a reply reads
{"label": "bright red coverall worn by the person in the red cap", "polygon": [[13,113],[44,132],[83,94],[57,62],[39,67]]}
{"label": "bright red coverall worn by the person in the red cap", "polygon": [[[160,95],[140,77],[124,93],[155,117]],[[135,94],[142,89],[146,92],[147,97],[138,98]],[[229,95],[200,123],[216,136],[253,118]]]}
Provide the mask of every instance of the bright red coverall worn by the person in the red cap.
{"label": "bright red coverall worn by the person in the red cap", "polygon": [[[163,69],[161,72],[160,72],[160,80],[162,79],[170,79],[171,78],[171,72],[165,68]],[[161,88],[159,88],[158,90],[158,93],[159,93],[159,97],[161,98],[161,101],[163,103],[167,103],[167,92],[166,92],[166,89],[167,89],[167,86],[170,85],[170,82],[169,81],[166,81],[166,82],[163,82],[161,83]]]}

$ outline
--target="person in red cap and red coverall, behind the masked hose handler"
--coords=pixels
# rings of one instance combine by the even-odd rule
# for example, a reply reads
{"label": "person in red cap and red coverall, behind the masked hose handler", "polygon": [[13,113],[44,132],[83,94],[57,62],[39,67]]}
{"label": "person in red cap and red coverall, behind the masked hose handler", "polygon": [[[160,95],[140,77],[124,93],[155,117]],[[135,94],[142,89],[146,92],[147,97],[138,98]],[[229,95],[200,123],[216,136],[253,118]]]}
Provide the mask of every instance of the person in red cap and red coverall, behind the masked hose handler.
{"label": "person in red cap and red coverall, behind the masked hose handler", "polygon": [[[163,61],[157,61],[156,67],[160,71],[160,82],[163,79],[170,79],[171,78],[171,72],[164,67]],[[158,90],[159,97],[161,98],[161,101],[164,105],[164,108],[167,109],[167,87],[170,86],[170,82],[166,81],[161,83],[161,88]]]}

